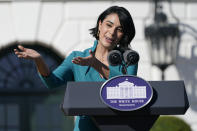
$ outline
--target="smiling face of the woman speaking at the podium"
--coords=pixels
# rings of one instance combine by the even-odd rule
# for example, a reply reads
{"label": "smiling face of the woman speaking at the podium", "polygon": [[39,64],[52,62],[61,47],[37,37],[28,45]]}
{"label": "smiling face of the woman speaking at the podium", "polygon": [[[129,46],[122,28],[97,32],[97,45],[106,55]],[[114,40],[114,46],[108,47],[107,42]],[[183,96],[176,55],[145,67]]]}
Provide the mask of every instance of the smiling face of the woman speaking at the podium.
{"label": "smiling face of the woman speaking at the podium", "polygon": [[103,22],[99,22],[99,43],[107,49],[113,49],[123,36],[119,17],[113,13],[108,15]]}

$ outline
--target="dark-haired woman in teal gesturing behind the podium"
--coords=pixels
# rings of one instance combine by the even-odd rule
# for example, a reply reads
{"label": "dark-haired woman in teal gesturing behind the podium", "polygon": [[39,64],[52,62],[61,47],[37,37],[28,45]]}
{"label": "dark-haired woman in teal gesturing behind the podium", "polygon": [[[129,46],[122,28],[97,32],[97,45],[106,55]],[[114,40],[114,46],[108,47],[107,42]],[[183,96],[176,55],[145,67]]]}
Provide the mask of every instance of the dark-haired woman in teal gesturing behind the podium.
{"label": "dark-haired woman in teal gesturing behind the podium", "polygon": [[[35,61],[39,76],[48,88],[56,88],[68,81],[105,81],[122,75],[123,65],[111,66],[108,53],[116,47],[128,49],[135,36],[135,27],[130,13],[123,7],[112,6],[106,9],[97,20],[95,28],[90,29],[96,38],[93,47],[83,52],[73,51],[53,72],[35,50],[18,46],[14,49],[19,58]],[[137,64],[127,68],[130,75],[137,74]],[[98,130],[88,116],[77,116],[75,131]]]}

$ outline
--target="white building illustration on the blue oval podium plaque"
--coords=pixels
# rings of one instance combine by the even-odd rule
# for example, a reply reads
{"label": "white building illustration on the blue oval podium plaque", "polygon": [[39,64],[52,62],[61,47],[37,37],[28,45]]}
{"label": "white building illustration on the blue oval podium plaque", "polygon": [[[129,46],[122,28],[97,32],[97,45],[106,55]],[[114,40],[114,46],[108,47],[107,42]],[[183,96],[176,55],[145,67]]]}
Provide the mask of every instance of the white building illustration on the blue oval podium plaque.
{"label": "white building illustration on the blue oval podium plaque", "polygon": [[146,86],[136,86],[126,79],[115,87],[106,87],[107,99],[146,98]]}

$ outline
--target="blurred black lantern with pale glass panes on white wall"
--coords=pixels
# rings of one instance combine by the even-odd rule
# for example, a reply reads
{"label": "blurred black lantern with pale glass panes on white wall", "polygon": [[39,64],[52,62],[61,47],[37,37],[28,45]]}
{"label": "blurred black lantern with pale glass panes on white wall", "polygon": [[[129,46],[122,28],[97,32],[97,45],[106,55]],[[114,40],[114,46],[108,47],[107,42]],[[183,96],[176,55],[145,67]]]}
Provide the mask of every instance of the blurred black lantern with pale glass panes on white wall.
{"label": "blurred black lantern with pale glass panes on white wall", "polygon": [[145,38],[148,41],[151,63],[162,71],[165,80],[165,69],[174,64],[180,42],[180,31],[177,23],[169,23],[162,11],[161,1],[154,0],[153,22],[145,26]]}

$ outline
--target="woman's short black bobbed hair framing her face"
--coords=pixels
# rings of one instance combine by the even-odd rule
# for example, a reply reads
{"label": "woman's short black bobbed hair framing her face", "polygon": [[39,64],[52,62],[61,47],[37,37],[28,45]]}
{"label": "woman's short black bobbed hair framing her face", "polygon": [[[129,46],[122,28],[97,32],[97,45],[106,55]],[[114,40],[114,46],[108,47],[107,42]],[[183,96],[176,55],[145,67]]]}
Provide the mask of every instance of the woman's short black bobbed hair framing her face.
{"label": "woman's short black bobbed hair framing her face", "polygon": [[90,34],[93,35],[97,40],[99,39],[97,36],[98,28],[99,28],[99,21],[103,22],[103,20],[110,14],[117,14],[119,17],[120,24],[123,29],[123,37],[118,43],[122,48],[128,48],[130,42],[133,40],[135,36],[135,26],[133,23],[133,19],[127,9],[124,7],[119,6],[112,6],[106,9],[103,13],[100,14],[98,17],[96,27],[90,29]]}

